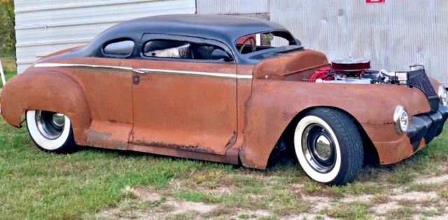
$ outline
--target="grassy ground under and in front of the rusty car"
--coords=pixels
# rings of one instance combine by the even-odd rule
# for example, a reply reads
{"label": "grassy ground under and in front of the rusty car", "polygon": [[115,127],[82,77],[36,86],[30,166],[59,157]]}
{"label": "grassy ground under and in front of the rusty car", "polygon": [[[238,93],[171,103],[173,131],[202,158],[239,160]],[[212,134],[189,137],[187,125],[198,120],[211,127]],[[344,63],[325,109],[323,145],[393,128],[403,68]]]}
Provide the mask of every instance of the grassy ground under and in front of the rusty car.
{"label": "grassy ground under and in front of the rusty car", "polygon": [[[248,211],[261,209],[269,210],[269,216],[263,218],[280,219],[311,212],[314,204],[304,199],[307,196],[330,198],[331,204],[338,207],[317,214],[370,219],[369,207],[386,202],[391,188],[406,186],[409,190],[423,191],[424,186],[411,181],[420,174],[440,174],[437,167],[447,164],[447,143],[445,129],[442,137],[402,163],[364,171],[358,181],[346,186],[324,186],[309,180],[296,163],[277,164],[267,171],[258,171],[101,149],[84,149],[66,155],[44,153],[31,143],[26,128],[18,130],[0,118],[0,219],[80,219],[111,207],[118,207],[124,216],[134,217],[132,210],[169,210],[169,207],[162,208],[168,198],[218,205],[219,212],[215,210],[211,216],[220,214],[225,218],[231,215],[223,210],[241,209],[235,215],[244,219]],[[160,193],[162,199],[140,201],[137,195],[124,193],[127,186],[150,189]],[[444,200],[448,198],[447,192],[446,187],[437,191]],[[339,202],[346,196],[363,194],[374,195],[374,199]],[[393,210],[390,215],[406,218],[415,212],[414,209]],[[201,215],[166,213],[166,219]]]}

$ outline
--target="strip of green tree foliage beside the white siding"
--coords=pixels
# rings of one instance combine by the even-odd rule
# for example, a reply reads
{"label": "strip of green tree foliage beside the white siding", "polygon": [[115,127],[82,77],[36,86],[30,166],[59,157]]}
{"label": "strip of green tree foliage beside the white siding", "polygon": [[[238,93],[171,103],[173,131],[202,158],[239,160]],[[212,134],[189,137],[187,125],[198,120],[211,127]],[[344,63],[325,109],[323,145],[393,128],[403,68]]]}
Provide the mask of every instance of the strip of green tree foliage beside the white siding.
{"label": "strip of green tree foliage beside the white siding", "polygon": [[0,55],[15,55],[14,1],[0,0]]}

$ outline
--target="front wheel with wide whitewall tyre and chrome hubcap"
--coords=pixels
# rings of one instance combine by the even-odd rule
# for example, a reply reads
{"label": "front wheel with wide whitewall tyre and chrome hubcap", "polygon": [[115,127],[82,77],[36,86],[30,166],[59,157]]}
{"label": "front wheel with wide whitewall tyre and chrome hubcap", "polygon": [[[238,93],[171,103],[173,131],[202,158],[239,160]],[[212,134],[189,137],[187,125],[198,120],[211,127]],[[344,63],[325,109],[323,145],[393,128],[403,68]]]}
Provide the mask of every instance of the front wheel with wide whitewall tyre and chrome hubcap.
{"label": "front wheel with wide whitewall tyre and chrome hubcap", "polygon": [[316,108],[294,132],[297,159],[311,179],[342,185],[353,181],[363,165],[363,142],[352,118],[342,111]]}

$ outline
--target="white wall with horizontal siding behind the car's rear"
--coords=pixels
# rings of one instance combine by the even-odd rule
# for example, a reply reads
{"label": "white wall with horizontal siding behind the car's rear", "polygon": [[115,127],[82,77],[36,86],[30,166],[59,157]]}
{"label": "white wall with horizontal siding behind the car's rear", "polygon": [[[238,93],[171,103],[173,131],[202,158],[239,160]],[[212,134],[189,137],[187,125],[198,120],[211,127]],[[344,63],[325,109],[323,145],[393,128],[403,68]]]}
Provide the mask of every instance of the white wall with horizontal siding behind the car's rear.
{"label": "white wall with horizontal siding behind the car's rear", "polygon": [[18,72],[38,57],[88,43],[118,22],[195,11],[195,0],[15,0]]}

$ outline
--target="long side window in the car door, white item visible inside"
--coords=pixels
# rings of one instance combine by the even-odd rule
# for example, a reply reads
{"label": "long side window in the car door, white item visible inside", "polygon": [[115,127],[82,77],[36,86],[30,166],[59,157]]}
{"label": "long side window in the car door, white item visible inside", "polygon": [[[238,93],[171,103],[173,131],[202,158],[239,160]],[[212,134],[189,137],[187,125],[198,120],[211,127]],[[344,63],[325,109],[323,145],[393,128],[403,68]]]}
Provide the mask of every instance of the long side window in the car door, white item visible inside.
{"label": "long side window in the car door, white item visible inside", "polygon": [[145,57],[165,57],[186,60],[232,60],[223,48],[207,43],[174,40],[151,40],[144,44]]}

